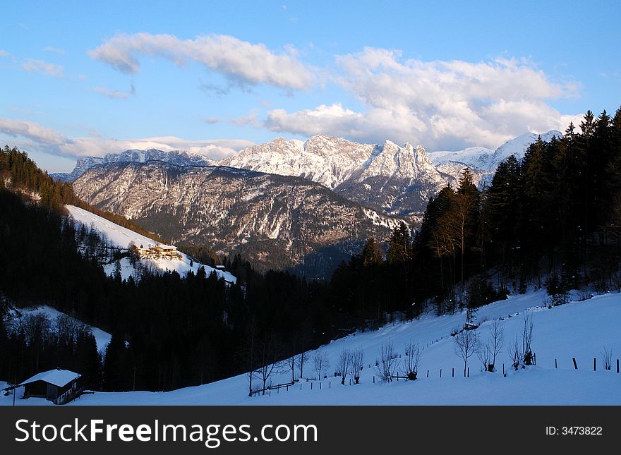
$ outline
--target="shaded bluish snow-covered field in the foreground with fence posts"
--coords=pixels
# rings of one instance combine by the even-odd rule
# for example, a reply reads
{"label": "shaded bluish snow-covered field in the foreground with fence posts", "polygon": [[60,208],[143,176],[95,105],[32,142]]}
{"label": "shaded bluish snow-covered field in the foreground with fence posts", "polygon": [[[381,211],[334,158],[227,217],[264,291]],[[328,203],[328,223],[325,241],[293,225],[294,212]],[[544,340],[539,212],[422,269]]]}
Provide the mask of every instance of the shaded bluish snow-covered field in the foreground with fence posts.
{"label": "shaded bluish snow-covered field in the foreground with fence posts", "polygon": [[[356,333],[332,341],[319,348],[330,358],[327,379],[301,380],[289,390],[272,391],[271,396],[248,397],[246,375],[231,377],[198,387],[186,387],[173,392],[123,392],[82,396],[69,406],[80,405],[339,405],[339,404],[459,404],[459,405],[620,405],[621,374],[615,361],[621,348],[621,294],[595,296],[582,302],[545,308],[545,292],[530,292],[511,296],[506,301],[480,308],[477,319],[481,326],[476,332],[488,339],[490,324],[502,317],[505,328],[505,347],[497,360],[499,372],[481,371],[473,356],[469,359],[470,377],[463,377],[464,363],[454,353],[450,332],[463,324],[464,313],[435,317],[425,315],[413,322],[395,323],[379,331]],[[533,351],[536,366],[511,370],[508,345],[524,327],[524,312],[532,315]],[[404,343],[412,340],[424,346],[414,382],[382,383],[373,368],[382,344],[392,341],[404,356]],[[603,370],[601,351],[612,348],[613,370]],[[334,365],[343,348],[362,348],[365,368],[361,384],[342,386],[334,377]],[[312,358],[315,351],[310,353]],[[572,358],[578,370],[574,370]],[[597,370],[593,371],[593,358]],[[555,368],[555,359],[557,367]],[[502,375],[502,363],[507,375]],[[370,368],[368,365],[371,365]],[[440,377],[442,368],[442,377]],[[455,376],[452,377],[452,368]],[[427,371],[429,376],[427,377]],[[375,375],[375,383],[373,376]],[[315,377],[312,360],[305,365],[305,377]],[[274,384],[287,382],[289,371],[270,378]],[[256,380],[255,380],[256,381]],[[310,389],[311,382],[313,389]],[[320,386],[321,383],[321,386]],[[300,389],[301,387],[301,389]],[[21,392],[18,392],[18,397]],[[12,404],[11,397],[1,396],[1,404]],[[48,404],[42,399],[17,400],[18,406]]]}

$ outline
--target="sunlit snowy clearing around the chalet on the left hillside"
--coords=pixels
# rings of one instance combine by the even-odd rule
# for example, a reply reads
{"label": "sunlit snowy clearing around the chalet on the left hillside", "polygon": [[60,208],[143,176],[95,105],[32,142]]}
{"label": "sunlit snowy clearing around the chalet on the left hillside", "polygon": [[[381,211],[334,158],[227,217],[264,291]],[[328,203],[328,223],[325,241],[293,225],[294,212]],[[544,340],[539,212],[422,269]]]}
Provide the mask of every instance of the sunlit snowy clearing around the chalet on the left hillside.
{"label": "sunlit snowy clearing around the chalet on the left hillside", "polygon": [[[146,236],[140,235],[131,229],[124,228],[123,226],[119,226],[113,222],[108,221],[105,218],[102,218],[94,213],[88,212],[87,210],[80,209],[80,207],[75,207],[73,205],[66,205],[66,209],[68,210],[71,217],[76,220],[76,222],[80,222],[85,226],[92,226],[97,231],[105,234],[111,243],[116,245],[118,248],[128,248],[131,242],[135,243],[136,246],[140,245],[150,245],[152,243],[157,243],[152,238],[148,238]],[[163,244],[162,244],[163,245]],[[166,246],[166,245],[164,245]],[[194,273],[198,272],[200,267],[205,267],[205,272],[207,272],[207,276],[209,276],[212,272],[216,272],[219,278],[224,278],[224,280],[229,281],[231,283],[236,282],[236,277],[231,275],[229,272],[224,272],[222,270],[216,270],[213,267],[208,265],[203,265],[198,262],[192,262],[187,255],[179,252],[181,254],[181,259],[142,259],[140,262],[143,262],[147,267],[152,267],[156,270],[161,270],[162,272],[169,270],[175,271],[179,273],[182,277],[188,271],[192,270]],[[123,279],[127,279],[132,274],[135,273],[134,267],[131,265],[129,259],[127,257],[123,257],[121,261],[121,277]],[[114,264],[109,264],[104,267],[107,274],[111,274],[114,272]]]}

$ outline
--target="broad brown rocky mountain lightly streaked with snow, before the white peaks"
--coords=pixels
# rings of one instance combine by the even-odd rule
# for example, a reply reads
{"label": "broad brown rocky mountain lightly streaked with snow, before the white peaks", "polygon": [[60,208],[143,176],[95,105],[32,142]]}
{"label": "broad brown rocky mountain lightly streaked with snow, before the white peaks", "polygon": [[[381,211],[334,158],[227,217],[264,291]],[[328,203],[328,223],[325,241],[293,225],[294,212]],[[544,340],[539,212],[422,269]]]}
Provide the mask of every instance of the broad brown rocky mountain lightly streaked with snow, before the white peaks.
{"label": "broad brown rocky mountain lightly streaked with snow, before the white peaks", "polygon": [[264,267],[303,262],[307,276],[325,276],[400,222],[303,178],[225,166],[108,163],[89,169],[73,189],[165,238],[243,253]]}

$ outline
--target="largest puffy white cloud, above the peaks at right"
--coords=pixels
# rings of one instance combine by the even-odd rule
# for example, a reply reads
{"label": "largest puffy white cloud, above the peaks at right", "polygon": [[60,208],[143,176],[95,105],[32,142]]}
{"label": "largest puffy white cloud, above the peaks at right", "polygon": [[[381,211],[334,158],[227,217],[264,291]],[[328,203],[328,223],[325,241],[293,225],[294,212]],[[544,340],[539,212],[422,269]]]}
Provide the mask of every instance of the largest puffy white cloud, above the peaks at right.
{"label": "largest puffy white cloud, above the peaks at right", "polygon": [[399,51],[366,48],[337,56],[332,80],[363,104],[340,103],[288,113],[273,109],[265,126],[303,135],[329,134],[380,142],[421,143],[430,150],[469,145],[497,147],[526,131],[567,127],[550,99],[573,97],[579,85],[553,83],[526,60],[403,60]]}

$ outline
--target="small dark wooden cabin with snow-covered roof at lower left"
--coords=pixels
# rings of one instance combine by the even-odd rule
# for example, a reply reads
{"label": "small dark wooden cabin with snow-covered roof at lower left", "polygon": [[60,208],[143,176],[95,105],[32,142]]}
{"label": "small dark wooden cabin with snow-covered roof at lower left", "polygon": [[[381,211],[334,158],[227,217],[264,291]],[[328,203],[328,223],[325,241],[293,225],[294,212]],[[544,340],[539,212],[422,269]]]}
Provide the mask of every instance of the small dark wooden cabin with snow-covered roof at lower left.
{"label": "small dark wooden cabin with snow-covered roof at lower left", "polygon": [[19,385],[24,387],[24,398],[38,396],[54,404],[65,404],[78,393],[78,380],[81,376],[73,371],[56,368],[40,372]]}

